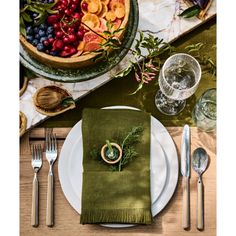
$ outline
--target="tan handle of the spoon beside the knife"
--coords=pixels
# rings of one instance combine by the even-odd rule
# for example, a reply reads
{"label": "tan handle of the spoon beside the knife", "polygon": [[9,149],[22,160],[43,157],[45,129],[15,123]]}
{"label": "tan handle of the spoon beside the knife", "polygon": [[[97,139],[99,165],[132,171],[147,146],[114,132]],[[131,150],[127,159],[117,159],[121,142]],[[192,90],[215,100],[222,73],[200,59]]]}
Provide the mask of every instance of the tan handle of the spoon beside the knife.
{"label": "tan handle of the spoon beside the knife", "polygon": [[203,230],[204,217],[203,217],[203,184],[201,178],[197,183],[197,228]]}

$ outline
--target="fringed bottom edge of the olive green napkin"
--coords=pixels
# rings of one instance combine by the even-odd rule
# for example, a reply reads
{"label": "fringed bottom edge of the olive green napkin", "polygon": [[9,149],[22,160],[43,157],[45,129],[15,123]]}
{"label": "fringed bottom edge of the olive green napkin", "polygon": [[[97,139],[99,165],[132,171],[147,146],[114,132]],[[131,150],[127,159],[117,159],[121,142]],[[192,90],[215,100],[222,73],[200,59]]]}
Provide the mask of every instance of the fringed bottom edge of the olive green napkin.
{"label": "fringed bottom edge of the olive green napkin", "polygon": [[152,215],[150,209],[83,209],[80,216],[81,224],[98,223],[130,223],[151,224]]}

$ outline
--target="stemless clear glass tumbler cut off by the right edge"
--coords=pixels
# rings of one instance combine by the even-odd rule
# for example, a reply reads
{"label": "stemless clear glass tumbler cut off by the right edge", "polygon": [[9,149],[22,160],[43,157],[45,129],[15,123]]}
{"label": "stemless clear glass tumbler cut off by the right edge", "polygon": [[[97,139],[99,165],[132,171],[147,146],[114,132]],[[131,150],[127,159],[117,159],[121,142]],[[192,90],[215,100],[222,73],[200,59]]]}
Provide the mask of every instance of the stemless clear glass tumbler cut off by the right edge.
{"label": "stemless clear glass tumbler cut off by the right edge", "polygon": [[198,128],[206,132],[216,128],[216,89],[208,89],[197,101],[192,118]]}

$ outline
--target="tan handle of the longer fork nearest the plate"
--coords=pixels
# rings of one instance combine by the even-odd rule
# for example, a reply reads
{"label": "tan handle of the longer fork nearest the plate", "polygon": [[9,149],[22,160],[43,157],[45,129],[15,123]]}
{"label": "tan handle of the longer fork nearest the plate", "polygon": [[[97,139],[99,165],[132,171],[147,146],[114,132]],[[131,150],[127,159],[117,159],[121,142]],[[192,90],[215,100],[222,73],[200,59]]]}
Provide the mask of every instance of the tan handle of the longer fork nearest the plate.
{"label": "tan handle of the longer fork nearest the plate", "polygon": [[48,173],[46,225],[53,226],[53,173]]}

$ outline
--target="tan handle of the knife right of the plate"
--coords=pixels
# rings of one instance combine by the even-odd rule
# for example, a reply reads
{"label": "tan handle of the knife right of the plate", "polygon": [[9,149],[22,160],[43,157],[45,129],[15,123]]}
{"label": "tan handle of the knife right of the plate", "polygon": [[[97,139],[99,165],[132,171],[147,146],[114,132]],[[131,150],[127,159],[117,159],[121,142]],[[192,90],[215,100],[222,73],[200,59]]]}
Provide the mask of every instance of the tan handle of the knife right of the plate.
{"label": "tan handle of the knife right of the plate", "polygon": [[183,188],[183,205],[182,205],[182,227],[184,229],[189,228],[189,179],[187,177],[183,177],[182,180],[182,188]]}

